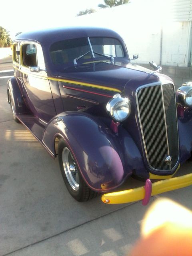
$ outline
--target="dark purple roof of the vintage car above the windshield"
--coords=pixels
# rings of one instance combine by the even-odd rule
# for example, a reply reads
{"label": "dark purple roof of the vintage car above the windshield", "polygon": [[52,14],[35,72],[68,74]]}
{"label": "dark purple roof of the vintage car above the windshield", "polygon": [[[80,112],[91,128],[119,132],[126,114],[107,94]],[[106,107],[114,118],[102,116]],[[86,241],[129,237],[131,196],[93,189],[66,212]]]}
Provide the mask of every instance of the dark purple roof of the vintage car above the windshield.
{"label": "dark purple roof of the vintage car above the windshield", "polygon": [[[122,38],[118,33],[108,28],[97,28],[97,27],[63,27],[63,28],[51,28],[32,32],[26,32],[19,34],[15,40],[34,40],[39,42],[41,45],[50,45],[54,42],[82,38],[82,37],[112,37],[118,38],[122,41]],[[14,41],[15,41],[14,40]]]}

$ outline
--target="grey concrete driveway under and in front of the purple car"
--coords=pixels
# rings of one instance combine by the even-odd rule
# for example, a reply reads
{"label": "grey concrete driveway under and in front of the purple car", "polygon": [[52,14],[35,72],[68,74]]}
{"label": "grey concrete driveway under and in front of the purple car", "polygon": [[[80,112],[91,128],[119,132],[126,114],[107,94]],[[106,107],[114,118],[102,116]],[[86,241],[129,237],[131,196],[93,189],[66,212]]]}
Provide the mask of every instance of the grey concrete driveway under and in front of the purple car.
{"label": "grey concrete driveway under and in front of the purple car", "polygon": [[[14,122],[6,80],[0,78],[0,256],[127,255],[149,206],[106,205],[100,197],[76,202],[64,186],[58,161]],[[180,172],[190,169],[187,162]],[[143,183],[130,179],[127,186]],[[191,186],[162,196],[192,209]]]}

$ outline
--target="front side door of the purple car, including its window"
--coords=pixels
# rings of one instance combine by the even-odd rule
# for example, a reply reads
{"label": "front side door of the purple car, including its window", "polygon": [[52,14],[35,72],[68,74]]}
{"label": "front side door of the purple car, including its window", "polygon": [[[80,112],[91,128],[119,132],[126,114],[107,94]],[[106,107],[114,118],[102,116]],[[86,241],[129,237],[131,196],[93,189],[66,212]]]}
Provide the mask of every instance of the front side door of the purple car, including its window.
{"label": "front side door of the purple car, including its window", "polygon": [[48,123],[56,110],[40,44],[20,44],[20,70],[27,106],[36,118]]}

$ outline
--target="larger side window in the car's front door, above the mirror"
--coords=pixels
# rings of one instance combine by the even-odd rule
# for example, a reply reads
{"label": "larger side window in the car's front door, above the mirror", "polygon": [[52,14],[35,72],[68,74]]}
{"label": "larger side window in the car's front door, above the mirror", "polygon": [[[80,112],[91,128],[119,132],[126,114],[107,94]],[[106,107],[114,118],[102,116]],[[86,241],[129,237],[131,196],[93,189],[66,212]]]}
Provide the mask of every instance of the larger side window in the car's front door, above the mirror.
{"label": "larger side window in the car's front door, above the mirror", "polygon": [[35,44],[24,44],[22,46],[22,58],[24,66],[37,66],[37,54]]}

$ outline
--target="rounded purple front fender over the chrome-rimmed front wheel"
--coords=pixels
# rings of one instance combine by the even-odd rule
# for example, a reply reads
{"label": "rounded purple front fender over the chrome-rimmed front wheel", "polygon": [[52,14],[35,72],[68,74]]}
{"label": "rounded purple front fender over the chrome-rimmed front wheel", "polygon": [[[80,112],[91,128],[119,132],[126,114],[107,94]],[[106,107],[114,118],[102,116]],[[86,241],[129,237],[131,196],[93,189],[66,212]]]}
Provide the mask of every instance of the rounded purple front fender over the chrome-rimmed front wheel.
{"label": "rounded purple front fender over the chrome-rimmed front wheel", "polygon": [[[98,118],[80,112],[64,112],[54,117],[43,134],[43,142],[53,155],[56,136],[65,140],[84,180],[93,190],[108,191],[132,174],[130,163],[134,158],[126,154],[122,139],[119,141]],[[134,152],[136,146],[131,143]]]}

